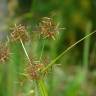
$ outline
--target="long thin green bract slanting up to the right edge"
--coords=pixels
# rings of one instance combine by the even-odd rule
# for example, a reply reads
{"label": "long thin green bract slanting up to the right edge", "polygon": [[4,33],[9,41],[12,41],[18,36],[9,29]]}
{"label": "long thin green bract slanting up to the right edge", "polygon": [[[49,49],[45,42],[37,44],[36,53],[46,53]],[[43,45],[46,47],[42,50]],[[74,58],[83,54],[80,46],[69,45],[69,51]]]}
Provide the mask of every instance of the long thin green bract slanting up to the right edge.
{"label": "long thin green bract slanting up to the right edge", "polygon": [[77,41],[76,43],[74,43],[73,45],[69,46],[65,51],[63,51],[59,56],[57,56],[54,60],[52,60],[51,63],[49,63],[43,70],[42,72],[45,72],[49,67],[51,67],[58,59],[60,59],[65,53],[67,53],[70,49],[72,49],[74,46],[76,46],[78,43],[80,43],[81,41],[85,40],[86,38],[88,38],[89,36],[93,35],[94,33],[96,33],[96,31],[93,31],[92,33],[86,35],[85,37],[83,37],[82,39],[80,39],[79,41]]}

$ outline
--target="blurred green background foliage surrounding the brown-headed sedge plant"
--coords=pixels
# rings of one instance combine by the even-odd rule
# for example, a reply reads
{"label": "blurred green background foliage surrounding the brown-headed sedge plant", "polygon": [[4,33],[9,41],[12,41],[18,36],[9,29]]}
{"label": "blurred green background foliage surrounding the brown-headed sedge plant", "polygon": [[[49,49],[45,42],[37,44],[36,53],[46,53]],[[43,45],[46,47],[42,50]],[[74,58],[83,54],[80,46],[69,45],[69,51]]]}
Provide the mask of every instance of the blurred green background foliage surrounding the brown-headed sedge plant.
{"label": "blurred green background foliage surrounding the brown-headed sedge plant", "polygon": [[[31,36],[25,47],[39,58],[43,41],[36,38],[34,31],[42,17],[52,18],[66,28],[56,40],[46,40],[43,58],[50,62],[96,30],[96,0],[0,0],[0,40],[6,40],[10,26],[24,24]],[[48,96],[96,96],[95,36],[82,41],[56,62],[45,80]],[[14,54],[9,62],[0,64],[0,96],[40,96],[36,84],[20,75],[26,65],[21,45],[9,46]],[[20,86],[22,80],[25,83]]]}

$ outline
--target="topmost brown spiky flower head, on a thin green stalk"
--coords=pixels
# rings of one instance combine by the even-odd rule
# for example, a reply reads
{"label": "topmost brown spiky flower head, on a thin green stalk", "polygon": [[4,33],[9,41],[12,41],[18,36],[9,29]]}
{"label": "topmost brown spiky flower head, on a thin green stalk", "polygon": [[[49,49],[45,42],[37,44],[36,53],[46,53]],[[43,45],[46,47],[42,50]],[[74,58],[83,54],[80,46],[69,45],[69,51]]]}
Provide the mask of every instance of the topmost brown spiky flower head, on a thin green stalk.
{"label": "topmost brown spiky flower head, on a thin green stalk", "polygon": [[43,17],[39,23],[39,31],[43,38],[52,38],[55,40],[55,35],[58,32],[58,26],[48,17]]}

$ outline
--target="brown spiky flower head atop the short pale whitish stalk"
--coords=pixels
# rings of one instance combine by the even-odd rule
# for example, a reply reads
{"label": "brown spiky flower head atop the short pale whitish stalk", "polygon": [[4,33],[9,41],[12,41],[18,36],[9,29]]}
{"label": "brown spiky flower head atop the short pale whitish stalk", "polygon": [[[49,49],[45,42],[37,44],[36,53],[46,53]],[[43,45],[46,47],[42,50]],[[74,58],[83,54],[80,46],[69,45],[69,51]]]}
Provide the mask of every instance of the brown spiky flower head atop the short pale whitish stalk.
{"label": "brown spiky flower head atop the short pale whitish stalk", "polygon": [[28,40],[28,35],[27,35],[27,30],[25,28],[25,26],[23,25],[15,25],[15,28],[12,28],[13,32],[11,33],[11,38],[13,41],[18,41],[18,40],[22,40],[22,41],[27,41]]}

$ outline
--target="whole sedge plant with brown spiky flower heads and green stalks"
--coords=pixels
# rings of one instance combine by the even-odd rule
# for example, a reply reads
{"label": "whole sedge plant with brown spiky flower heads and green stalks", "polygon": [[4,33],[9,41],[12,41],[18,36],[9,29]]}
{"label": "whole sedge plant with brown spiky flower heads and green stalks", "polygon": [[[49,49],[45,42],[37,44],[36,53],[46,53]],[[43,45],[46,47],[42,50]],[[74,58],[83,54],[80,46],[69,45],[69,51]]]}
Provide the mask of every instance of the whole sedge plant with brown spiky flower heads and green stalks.
{"label": "whole sedge plant with brown spiky flower heads and green stalks", "polygon": [[[52,38],[53,40],[56,40],[55,35],[58,34],[60,31],[58,24],[53,21],[52,18],[43,17],[41,19],[41,22],[39,23],[38,30],[41,38],[43,39],[49,39]],[[36,82],[37,86],[39,86],[40,92],[42,96],[48,96],[46,85],[44,84],[44,78],[46,71],[48,71],[49,68],[55,64],[55,62],[60,59],[66,52],[68,52],[70,49],[72,49],[75,45],[83,41],[84,39],[88,38],[89,36],[96,33],[96,31],[88,34],[84,38],[80,39],[73,45],[69,46],[66,50],[64,50],[59,56],[57,56],[55,59],[53,59],[49,64],[44,64],[42,60],[42,53],[44,51],[44,45],[42,46],[41,55],[38,59],[38,62],[35,62],[35,60],[31,60],[29,53],[26,50],[25,42],[27,43],[30,36],[27,33],[27,29],[22,24],[15,25],[14,28],[12,28],[12,32],[10,33],[9,39],[10,42],[19,42],[23,48],[23,51],[26,55],[26,58],[28,60],[28,64],[26,68],[24,69],[24,72],[22,73],[25,77],[27,77],[30,80],[33,80]],[[10,43],[8,42],[8,43]],[[6,45],[0,44],[0,62],[5,62],[9,59],[9,48]],[[33,55],[33,54],[32,54]]]}

